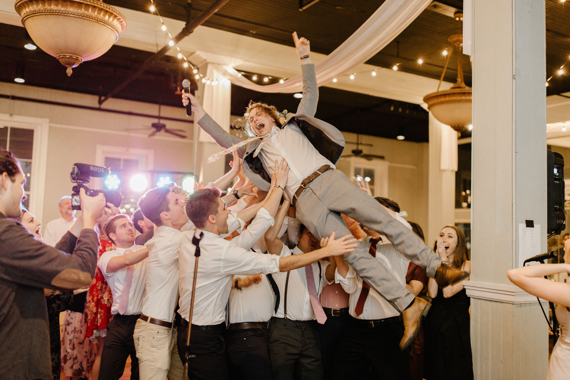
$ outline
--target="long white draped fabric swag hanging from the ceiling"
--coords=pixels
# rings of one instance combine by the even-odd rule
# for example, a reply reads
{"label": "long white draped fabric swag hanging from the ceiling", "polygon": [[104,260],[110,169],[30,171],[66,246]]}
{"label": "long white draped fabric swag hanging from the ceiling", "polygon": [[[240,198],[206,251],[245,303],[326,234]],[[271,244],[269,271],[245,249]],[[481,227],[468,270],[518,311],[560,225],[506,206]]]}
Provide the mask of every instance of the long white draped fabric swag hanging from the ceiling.
{"label": "long white draped fabric swag hanging from the ceiling", "polygon": [[[323,86],[336,76],[349,72],[372,58],[390,43],[402,30],[431,3],[431,0],[386,0],[342,45],[321,62],[315,64],[317,83]],[[261,86],[251,82],[230,66],[225,66],[224,75],[232,83],[259,92],[300,92],[301,76],[296,75],[284,83]]]}

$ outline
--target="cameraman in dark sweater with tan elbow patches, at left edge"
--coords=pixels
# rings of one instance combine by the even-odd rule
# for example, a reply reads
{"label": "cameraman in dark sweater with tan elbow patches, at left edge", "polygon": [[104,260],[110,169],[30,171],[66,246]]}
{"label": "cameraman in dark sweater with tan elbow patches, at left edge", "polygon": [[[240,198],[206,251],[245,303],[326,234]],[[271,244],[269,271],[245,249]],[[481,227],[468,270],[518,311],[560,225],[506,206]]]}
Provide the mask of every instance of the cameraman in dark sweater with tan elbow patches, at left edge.
{"label": "cameraman in dark sweater with tan elbow patches, at left edge", "polygon": [[4,343],[0,379],[51,380],[43,289],[80,289],[91,284],[99,246],[93,229],[116,208],[108,204],[105,209],[103,194],[89,197],[81,189],[82,215],[53,248],[36,240],[22,224],[7,219],[21,216],[25,183],[18,161],[0,149],[0,342]]}

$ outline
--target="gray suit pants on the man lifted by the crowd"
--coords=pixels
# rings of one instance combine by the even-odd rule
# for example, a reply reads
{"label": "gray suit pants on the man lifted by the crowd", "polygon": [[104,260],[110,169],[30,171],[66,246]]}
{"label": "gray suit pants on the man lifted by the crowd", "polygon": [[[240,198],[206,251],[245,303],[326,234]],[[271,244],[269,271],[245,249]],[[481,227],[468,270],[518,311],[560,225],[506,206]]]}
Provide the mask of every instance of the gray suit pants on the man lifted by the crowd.
{"label": "gray suit pants on the man lifted by the crowd", "polygon": [[[441,260],[420,237],[394,219],[376,200],[362,191],[339,170],[327,170],[316,177],[301,193],[296,204],[297,218],[317,238],[350,234],[340,213],[359,221],[365,227],[387,236],[396,249],[414,264],[434,277]],[[353,252],[343,258],[368,284],[404,310],[414,301],[414,295],[400,284],[388,268],[368,253],[370,247],[361,241]]]}

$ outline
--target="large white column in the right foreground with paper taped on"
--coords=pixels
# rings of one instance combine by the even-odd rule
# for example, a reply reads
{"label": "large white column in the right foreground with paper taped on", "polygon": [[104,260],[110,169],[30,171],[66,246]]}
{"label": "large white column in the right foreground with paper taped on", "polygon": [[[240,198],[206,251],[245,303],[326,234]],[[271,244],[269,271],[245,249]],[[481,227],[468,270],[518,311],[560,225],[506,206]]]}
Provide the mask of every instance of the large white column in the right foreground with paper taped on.
{"label": "large white column in the right foreground with paper taped on", "polygon": [[546,252],[544,0],[473,1],[471,345],[475,379],[544,379],[548,328],[536,298],[508,281],[518,225]]}

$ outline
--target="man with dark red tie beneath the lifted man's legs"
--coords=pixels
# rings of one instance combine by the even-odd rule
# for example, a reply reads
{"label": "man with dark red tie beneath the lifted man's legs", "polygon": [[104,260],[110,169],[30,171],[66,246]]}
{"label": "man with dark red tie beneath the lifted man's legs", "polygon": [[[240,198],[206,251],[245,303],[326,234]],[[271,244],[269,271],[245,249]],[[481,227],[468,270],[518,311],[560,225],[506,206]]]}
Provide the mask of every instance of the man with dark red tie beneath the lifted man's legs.
{"label": "man with dark red tie beneath the lifted man's legs", "polygon": [[[359,245],[368,246],[370,256],[405,285],[409,260],[393,244],[382,241],[381,237],[366,237],[359,240]],[[342,258],[335,257],[335,260],[335,280],[350,295],[352,318],[343,330],[333,365],[334,378],[367,378],[370,366],[373,374],[381,379],[409,378],[409,350],[400,349],[404,324],[399,310],[370,289]]]}

